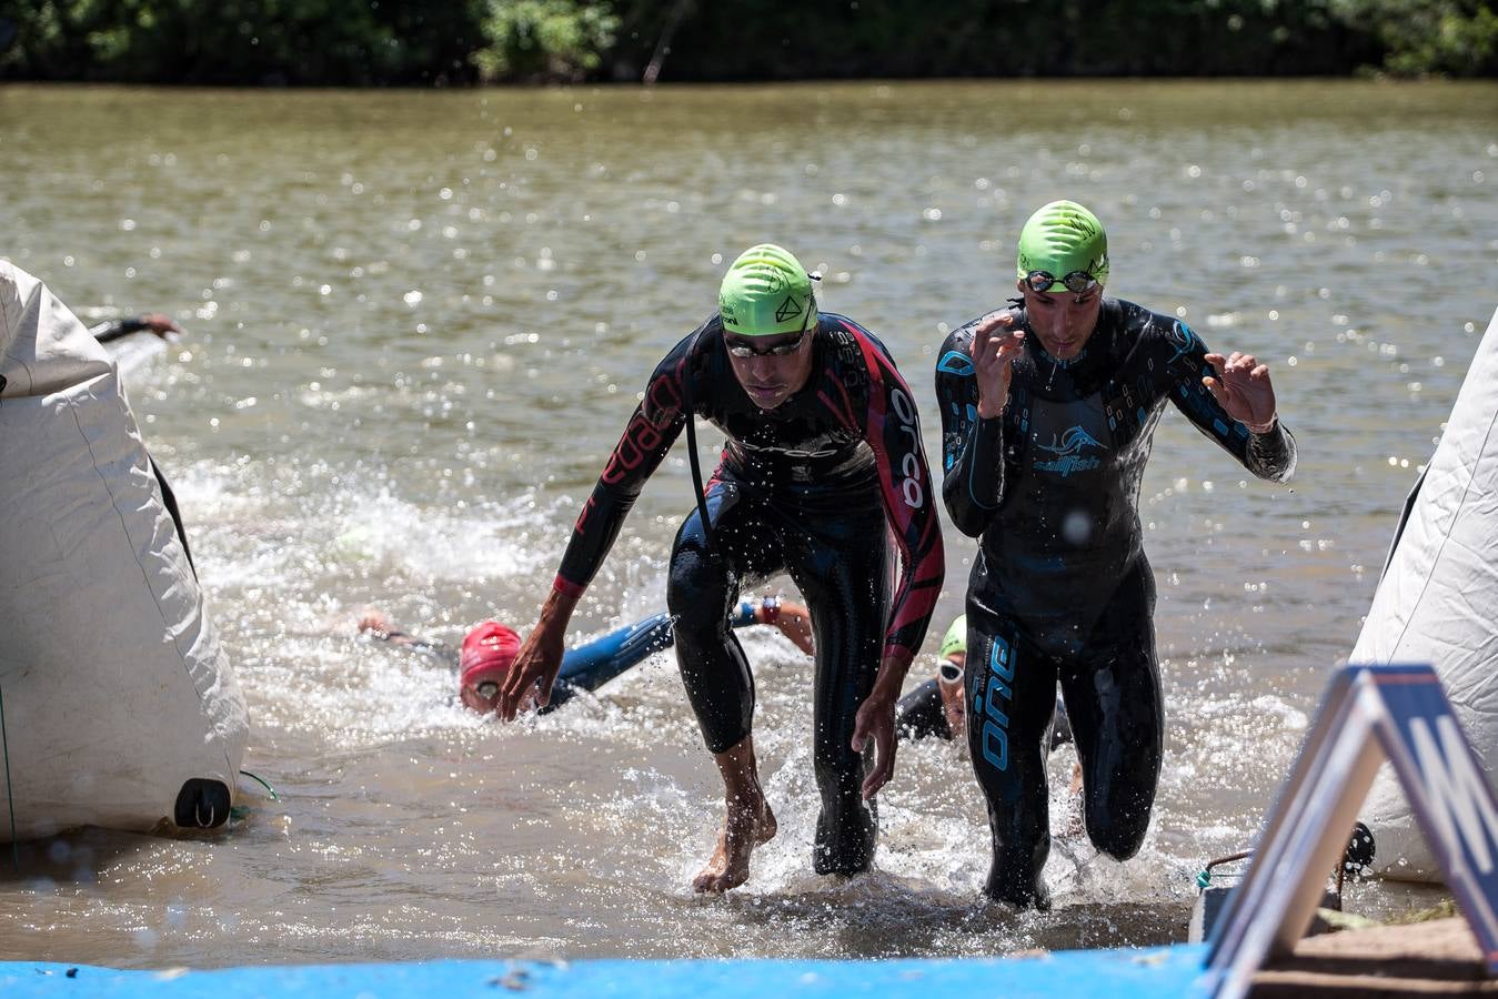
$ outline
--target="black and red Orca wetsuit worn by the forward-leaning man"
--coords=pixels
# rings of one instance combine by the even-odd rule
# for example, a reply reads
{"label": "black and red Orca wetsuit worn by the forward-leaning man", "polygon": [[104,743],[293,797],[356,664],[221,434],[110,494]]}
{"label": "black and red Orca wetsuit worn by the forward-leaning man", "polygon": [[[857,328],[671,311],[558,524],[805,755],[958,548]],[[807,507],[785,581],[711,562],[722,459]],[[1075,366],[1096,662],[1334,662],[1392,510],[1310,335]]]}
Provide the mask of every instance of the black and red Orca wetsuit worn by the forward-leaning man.
{"label": "black and red Orca wetsuit worn by the forward-leaning man", "polygon": [[[816,643],[813,759],[822,813],[819,873],[867,869],[873,815],[860,797],[854,716],[881,659],[908,665],[926,637],[942,583],[941,527],[914,397],[872,334],[824,313],[807,383],[771,410],[755,406],[730,367],[715,315],[656,367],[578,518],[556,586],[593,578],[646,479],[691,410],[728,442],[707,485],[713,544],[700,512],[671,553],[667,605],[692,710],[709,750],[750,732],[753,677],[728,629],[739,590],[789,574],[810,608]],[[903,562],[890,593],[887,536]]]}

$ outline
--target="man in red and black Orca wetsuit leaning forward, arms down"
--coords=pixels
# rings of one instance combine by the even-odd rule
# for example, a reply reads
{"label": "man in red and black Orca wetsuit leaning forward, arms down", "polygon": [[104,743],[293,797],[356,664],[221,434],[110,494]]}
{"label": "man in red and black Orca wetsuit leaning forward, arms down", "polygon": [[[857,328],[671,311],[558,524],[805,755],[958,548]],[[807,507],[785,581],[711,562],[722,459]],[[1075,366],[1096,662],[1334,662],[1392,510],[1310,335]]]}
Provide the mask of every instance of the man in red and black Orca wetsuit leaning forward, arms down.
{"label": "man in red and black Orca wetsuit leaning forward, arms down", "polygon": [[[941,590],[941,529],[914,395],[894,361],[851,319],[818,315],[812,279],[779,247],[734,261],[719,310],[656,367],[583,508],[500,716],[512,719],[533,690],[544,702],[583,589],[692,415],[728,437],[677,533],[667,586],[682,678],[727,804],[694,888],[743,884],[755,845],[776,831],[750,735],[753,677],[728,629],[740,586],[776,572],[789,574],[810,607],[816,644],[822,809],[812,863],[818,873],[867,870],[872,800],[894,771],[894,704]],[[888,535],[902,560],[893,595]]]}

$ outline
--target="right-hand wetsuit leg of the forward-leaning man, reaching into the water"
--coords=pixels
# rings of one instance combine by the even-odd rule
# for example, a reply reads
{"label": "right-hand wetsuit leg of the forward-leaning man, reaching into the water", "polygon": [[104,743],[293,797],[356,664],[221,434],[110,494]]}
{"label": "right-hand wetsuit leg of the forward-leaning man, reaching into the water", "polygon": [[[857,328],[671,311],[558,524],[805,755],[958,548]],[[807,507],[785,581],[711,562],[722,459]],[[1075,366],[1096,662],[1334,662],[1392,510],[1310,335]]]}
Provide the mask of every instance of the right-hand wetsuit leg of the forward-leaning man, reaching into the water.
{"label": "right-hand wetsuit leg of the forward-leaning man, reaching into the water", "polygon": [[[779,515],[786,571],[812,613],[816,641],[812,759],[822,809],[812,867],[854,875],[873,863],[876,815],[863,800],[864,756],[852,749],[873,689],[890,607],[884,512],[857,497],[836,517]],[[872,747],[870,747],[872,752]]]}

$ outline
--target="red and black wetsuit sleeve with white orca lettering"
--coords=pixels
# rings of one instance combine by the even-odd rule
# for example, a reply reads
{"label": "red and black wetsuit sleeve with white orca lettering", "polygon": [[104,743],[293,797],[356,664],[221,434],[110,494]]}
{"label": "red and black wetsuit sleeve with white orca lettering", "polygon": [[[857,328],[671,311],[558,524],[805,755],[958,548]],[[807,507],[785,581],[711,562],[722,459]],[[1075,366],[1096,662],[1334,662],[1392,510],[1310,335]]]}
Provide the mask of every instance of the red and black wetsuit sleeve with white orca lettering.
{"label": "red and black wetsuit sleeve with white orca lettering", "polygon": [[926,638],[941,593],[945,574],[941,521],[915,397],[882,349],[867,337],[858,341],[870,379],[864,440],[878,461],[884,515],[900,551],[900,583],[890,604],[884,658],[905,666]]}

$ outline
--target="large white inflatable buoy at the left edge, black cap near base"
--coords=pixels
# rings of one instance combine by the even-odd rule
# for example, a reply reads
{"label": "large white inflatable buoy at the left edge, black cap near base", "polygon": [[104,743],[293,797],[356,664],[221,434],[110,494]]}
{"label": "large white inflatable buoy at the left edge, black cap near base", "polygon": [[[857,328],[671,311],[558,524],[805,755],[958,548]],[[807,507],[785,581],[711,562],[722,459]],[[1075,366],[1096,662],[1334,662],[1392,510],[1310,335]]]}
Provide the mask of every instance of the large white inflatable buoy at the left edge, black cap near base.
{"label": "large white inflatable buoy at the left edge, black cap near base", "polygon": [[247,719],[118,371],[0,261],[0,842],[228,819]]}

